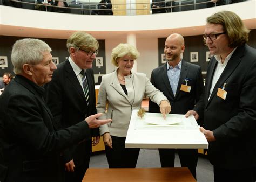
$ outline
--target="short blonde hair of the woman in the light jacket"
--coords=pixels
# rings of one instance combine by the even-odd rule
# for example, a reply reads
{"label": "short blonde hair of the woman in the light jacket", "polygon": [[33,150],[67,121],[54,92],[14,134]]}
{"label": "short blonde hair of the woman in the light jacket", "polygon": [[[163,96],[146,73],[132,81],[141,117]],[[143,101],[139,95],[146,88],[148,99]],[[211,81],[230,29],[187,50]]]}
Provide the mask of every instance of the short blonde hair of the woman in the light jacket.
{"label": "short blonde hair of the woman in the light jacket", "polygon": [[117,59],[122,58],[125,55],[131,57],[132,59],[137,59],[139,57],[139,51],[137,48],[130,44],[119,44],[114,47],[111,54],[111,62],[114,66],[118,67]]}

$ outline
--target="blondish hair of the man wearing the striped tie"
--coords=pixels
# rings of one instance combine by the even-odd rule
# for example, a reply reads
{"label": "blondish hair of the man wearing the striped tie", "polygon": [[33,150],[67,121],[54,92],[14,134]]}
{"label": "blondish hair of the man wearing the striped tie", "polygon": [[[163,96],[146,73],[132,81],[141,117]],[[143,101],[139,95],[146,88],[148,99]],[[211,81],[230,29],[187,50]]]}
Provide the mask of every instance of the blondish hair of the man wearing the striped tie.
{"label": "blondish hair of the man wearing the striped tie", "polygon": [[89,33],[78,31],[73,33],[66,41],[66,47],[70,53],[70,48],[74,47],[76,50],[80,48],[86,51],[98,50],[99,43],[96,38],[92,37]]}

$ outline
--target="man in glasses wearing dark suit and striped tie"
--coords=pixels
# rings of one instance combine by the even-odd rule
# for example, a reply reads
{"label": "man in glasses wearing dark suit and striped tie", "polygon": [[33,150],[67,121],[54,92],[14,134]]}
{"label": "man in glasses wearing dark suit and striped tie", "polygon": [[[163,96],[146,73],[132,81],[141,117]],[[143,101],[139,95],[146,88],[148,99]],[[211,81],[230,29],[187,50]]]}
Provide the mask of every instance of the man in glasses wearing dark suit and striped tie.
{"label": "man in glasses wearing dark suit and striped tie", "polygon": [[[83,31],[67,40],[70,57],[57,65],[52,82],[45,86],[45,100],[57,129],[66,128],[96,114],[95,81],[92,62],[98,54],[98,41]],[[63,152],[65,181],[82,181],[89,167],[92,145],[99,143],[99,131],[91,130],[87,139]]]}

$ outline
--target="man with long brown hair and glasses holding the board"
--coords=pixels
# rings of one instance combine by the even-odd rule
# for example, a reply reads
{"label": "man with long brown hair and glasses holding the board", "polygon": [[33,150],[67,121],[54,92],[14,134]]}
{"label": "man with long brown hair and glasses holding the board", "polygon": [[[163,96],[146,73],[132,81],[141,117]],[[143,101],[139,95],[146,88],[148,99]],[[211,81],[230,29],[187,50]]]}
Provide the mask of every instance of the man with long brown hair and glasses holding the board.
{"label": "man with long brown hair and glasses holding the board", "polygon": [[200,131],[209,142],[215,182],[255,181],[256,50],[246,44],[248,36],[241,18],[231,11],[207,18],[203,38],[214,57],[204,99],[186,116],[204,115]]}

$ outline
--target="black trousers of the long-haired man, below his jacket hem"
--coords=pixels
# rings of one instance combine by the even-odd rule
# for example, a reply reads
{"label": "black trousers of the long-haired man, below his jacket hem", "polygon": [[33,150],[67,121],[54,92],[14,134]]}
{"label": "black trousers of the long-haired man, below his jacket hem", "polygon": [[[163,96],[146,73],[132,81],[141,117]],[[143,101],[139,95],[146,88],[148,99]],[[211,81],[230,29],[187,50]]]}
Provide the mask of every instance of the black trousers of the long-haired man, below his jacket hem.
{"label": "black trousers of the long-haired man, below his jacket hem", "polygon": [[255,182],[253,168],[242,170],[228,170],[213,166],[214,182]]}

